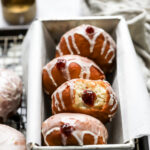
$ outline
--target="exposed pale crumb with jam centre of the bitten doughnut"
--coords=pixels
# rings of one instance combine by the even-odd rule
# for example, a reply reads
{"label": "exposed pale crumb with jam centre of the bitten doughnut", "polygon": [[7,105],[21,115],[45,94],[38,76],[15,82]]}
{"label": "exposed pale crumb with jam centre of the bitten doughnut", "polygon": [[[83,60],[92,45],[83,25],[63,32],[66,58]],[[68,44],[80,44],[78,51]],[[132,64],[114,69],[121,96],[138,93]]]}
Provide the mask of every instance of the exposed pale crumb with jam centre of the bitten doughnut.
{"label": "exposed pale crumb with jam centre of the bitten doughnut", "polygon": [[91,107],[101,109],[106,104],[107,96],[105,87],[100,86],[96,82],[88,80],[77,81],[75,84],[74,107],[80,109],[90,109]]}

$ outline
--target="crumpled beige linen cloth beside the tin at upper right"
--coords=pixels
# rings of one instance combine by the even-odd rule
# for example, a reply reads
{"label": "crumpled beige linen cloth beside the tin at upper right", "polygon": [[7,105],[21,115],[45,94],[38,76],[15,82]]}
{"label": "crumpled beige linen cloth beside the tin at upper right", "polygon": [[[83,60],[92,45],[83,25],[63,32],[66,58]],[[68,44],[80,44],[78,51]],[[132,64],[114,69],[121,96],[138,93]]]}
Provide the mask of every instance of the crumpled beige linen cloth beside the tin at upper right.
{"label": "crumpled beige linen cloth beside the tin at upper right", "polygon": [[150,0],[84,0],[82,15],[123,16],[150,94]]}

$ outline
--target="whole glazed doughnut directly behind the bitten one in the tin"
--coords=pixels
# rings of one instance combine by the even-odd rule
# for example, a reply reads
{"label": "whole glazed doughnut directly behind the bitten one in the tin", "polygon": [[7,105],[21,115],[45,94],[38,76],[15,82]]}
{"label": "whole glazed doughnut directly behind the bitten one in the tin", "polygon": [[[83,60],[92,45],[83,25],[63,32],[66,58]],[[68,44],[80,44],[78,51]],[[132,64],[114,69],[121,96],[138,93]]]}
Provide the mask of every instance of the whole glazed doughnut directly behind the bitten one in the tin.
{"label": "whole glazed doughnut directly behind the bitten one in the tin", "polygon": [[92,60],[77,55],[61,56],[43,68],[44,91],[51,95],[62,83],[74,78],[103,80],[105,75]]}

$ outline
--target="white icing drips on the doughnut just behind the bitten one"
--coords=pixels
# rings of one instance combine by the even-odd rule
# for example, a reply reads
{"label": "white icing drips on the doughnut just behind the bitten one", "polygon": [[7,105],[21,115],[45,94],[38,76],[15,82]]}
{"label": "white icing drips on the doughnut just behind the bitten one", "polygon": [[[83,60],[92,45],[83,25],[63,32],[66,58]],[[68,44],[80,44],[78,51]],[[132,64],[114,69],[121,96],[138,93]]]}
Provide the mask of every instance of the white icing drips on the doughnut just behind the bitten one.
{"label": "white icing drips on the doughnut just behind the bitten one", "polygon": [[71,80],[70,72],[69,72],[69,65],[71,63],[76,63],[81,67],[81,72],[79,77],[83,78],[84,74],[86,74],[86,79],[90,78],[90,68],[93,66],[97,68],[100,72],[103,73],[103,71],[91,60],[88,60],[87,58],[77,56],[77,55],[65,55],[58,58],[53,59],[50,63],[48,63],[43,69],[45,69],[48,72],[49,78],[52,80],[52,83],[57,87],[57,83],[55,82],[53,76],[52,76],[52,69],[57,63],[58,59],[65,59],[66,65],[65,68],[62,69],[62,73],[64,74],[64,77],[66,80]]}

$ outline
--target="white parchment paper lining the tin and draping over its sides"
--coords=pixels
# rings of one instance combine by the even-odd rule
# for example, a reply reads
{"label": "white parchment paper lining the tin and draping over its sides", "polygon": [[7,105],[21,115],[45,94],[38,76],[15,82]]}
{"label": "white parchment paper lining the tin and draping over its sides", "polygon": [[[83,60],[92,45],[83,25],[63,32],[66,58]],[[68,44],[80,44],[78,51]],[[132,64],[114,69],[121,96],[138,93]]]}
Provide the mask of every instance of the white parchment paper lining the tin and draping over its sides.
{"label": "white parchment paper lining the tin and draping over its sides", "polygon": [[[109,18],[111,21],[110,24],[107,24]],[[114,25],[116,18],[119,23]],[[85,17],[68,19],[64,24],[66,29],[84,22],[88,23],[90,19],[90,24],[97,24],[106,31],[113,30],[115,33],[117,68],[113,88],[118,96],[119,109],[112,123],[108,125],[110,126],[110,144],[121,144],[134,138],[150,135],[150,100],[141,74],[141,68],[137,62],[126,22],[121,17],[116,18]],[[56,22],[59,24],[58,19]],[[58,34],[57,29],[60,30],[60,27],[55,25],[54,20],[46,20],[42,23],[42,21],[33,23],[23,43],[24,60],[26,60],[24,71],[28,72],[25,76],[28,83],[27,143],[37,143],[39,145],[41,145],[41,122],[45,119],[41,70],[46,63],[48,54],[53,56],[55,45],[52,39]],[[60,24],[63,24],[62,21],[60,21]],[[50,35],[50,30],[53,29],[55,30]],[[63,31],[63,27],[61,29]],[[26,54],[28,55],[26,56]],[[50,56],[48,58],[50,60]]]}

